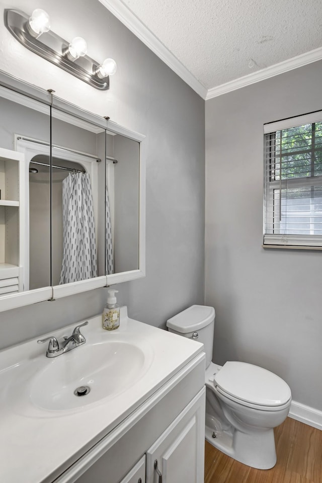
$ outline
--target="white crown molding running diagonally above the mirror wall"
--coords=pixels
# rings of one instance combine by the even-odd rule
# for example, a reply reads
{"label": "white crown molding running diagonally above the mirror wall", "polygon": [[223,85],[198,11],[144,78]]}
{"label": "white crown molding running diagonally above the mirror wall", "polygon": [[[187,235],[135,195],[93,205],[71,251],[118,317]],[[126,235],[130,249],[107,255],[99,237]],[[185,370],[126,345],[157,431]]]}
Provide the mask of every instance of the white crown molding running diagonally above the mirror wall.
{"label": "white crown molding running diagonally above the mirror wall", "polygon": [[207,89],[196,79],[180,60],[160,42],[152,32],[120,0],[100,0],[125,27],[138,37],[152,52],[165,62],[200,97],[206,99]]}

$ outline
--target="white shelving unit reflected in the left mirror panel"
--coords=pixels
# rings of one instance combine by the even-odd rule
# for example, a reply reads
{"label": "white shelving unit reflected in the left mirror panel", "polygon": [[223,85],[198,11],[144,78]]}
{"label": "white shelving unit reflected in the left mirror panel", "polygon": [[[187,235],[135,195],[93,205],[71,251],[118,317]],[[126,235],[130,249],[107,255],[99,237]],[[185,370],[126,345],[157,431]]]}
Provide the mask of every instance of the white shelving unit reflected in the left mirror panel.
{"label": "white shelving unit reflected in the left mirror panel", "polygon": [[24,155],[0,148],[0,297],[22,290]]}

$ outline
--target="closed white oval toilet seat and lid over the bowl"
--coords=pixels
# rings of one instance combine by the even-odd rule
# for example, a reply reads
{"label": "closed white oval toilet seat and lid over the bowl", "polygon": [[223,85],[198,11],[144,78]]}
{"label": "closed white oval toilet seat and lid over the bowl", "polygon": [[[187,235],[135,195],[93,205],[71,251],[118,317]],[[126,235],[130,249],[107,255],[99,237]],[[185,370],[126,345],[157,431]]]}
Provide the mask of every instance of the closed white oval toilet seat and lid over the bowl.
{"label": "closed white oval toilet seat and lid over the bowl", "polygon": [[279,376],[246,362],[226,362],[214,375],[216,390],[243,406],[279,411],[289,405],[291,390]]}

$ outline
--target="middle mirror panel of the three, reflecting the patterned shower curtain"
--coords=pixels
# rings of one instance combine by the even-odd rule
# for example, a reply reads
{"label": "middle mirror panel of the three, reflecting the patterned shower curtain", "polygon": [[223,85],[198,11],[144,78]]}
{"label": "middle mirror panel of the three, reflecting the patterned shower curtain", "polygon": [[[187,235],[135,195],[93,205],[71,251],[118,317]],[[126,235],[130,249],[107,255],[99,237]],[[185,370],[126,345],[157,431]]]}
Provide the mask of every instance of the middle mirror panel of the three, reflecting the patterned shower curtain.
{"label": "middle mirror panel of the three, reflecting the patterned shower curtain", "polygon": [[105,129],[52,108],[53,286],[105,275]]}

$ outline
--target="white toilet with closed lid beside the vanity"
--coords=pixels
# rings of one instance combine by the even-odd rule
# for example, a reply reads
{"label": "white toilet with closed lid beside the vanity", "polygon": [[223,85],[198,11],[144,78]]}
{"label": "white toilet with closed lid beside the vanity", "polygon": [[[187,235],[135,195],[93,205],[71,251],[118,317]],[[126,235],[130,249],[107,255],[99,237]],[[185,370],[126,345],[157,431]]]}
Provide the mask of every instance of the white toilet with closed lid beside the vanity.
{"label": "white toilet with closed lid beside the vanity", "polygon": [[211,362],[215,310],[192,305],[167,320],[170,332],[202,342],[206,353],[206,440],[259,469],[276,463],[273,428],[283,423],[291,390],[273,372],[245,362]]}

